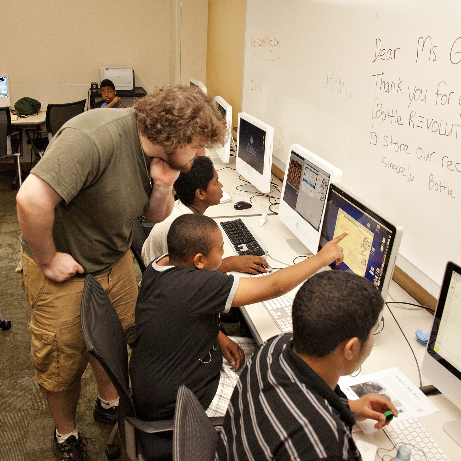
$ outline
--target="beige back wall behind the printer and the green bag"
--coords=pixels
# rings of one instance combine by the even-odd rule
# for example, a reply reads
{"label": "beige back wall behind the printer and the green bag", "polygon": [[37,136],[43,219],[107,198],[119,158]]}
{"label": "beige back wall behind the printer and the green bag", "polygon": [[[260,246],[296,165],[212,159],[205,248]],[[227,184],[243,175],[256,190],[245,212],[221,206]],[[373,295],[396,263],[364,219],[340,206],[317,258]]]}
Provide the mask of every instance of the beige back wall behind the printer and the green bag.
{"label": "beige back wall behind the printer and the green bag", "polygon": [[[8,46],[0,65],[13,104],[23,96],[45,106],[83,99],[103,65],[132,66],[136,86],[147,90],[169,81],[170,0],[16,0],[3,2],[2,16],[11,19],[3,21]],[[36,31],[19,33],[14,18]]]}

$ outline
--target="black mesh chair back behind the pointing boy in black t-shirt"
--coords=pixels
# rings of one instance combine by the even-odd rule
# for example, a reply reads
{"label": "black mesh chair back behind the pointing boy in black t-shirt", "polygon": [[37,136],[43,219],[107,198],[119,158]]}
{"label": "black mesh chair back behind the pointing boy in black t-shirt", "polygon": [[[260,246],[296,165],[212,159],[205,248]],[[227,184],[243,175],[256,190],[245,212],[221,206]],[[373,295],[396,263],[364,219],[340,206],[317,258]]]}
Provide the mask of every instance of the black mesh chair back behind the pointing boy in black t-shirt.
{"label": "black mesh chair back behind the pointing boy in black t-shirt", "polygon": [[130,399],[123,327],[106,292],[91,274],[85,276],[80,322],[88,352],[102,365],[120,396],[119,407],[126,416],[136,416]]}

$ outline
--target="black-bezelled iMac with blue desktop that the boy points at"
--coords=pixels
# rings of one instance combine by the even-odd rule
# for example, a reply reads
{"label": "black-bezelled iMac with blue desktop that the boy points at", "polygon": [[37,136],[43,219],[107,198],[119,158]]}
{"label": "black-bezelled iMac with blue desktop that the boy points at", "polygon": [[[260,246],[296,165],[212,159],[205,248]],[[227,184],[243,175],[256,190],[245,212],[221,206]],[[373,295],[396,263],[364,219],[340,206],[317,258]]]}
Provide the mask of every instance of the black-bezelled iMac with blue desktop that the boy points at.
{"label": "black-bezelled iMac with blue desktop that the boy points at", "polygon": [[344,231],[349,231],[339,243],[344,249],[344,260],[330,267],[355,272],[370,280],[385,301],[402,240],[402,226],[343,186],[331,183],[319,249]]}

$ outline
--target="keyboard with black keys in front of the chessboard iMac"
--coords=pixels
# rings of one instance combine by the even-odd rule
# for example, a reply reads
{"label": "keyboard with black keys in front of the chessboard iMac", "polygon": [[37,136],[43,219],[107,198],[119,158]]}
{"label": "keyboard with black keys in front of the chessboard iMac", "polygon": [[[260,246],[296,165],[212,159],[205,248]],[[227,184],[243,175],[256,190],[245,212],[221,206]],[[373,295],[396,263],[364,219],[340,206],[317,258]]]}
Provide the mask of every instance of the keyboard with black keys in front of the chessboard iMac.
{"label": "keyboard with black keys in front of the chessboard iMac", "polygon": [[224,221],[219,225],[224,231],[227,240],[240,256],[266,256],[269,253],[264,243],[260,241],[260,238],[246,221],[235,219],[234,221]]}

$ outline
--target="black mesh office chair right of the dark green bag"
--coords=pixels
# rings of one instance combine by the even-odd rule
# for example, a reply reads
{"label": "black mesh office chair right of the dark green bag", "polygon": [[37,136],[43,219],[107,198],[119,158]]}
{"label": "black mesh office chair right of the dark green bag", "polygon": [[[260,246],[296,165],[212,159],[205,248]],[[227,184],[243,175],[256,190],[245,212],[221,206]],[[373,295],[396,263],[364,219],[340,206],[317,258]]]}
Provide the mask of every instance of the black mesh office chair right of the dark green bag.
{"label": "black mesh office chair right of the dark green bag", "polygon": [[61,126],[64,125],[65,122],[70,120],[72,117],[82,113],[85,109],[85,104],[86,99],[77,102],[69,102],[67,104],[48,104],[47,115],[45,118],[47,130],[25,130],[27,136],[27,144],[31,145],[32,152],[35,155],[34,165],[43,157],[42,152],[45,152],[48,143],[59,131]]}

